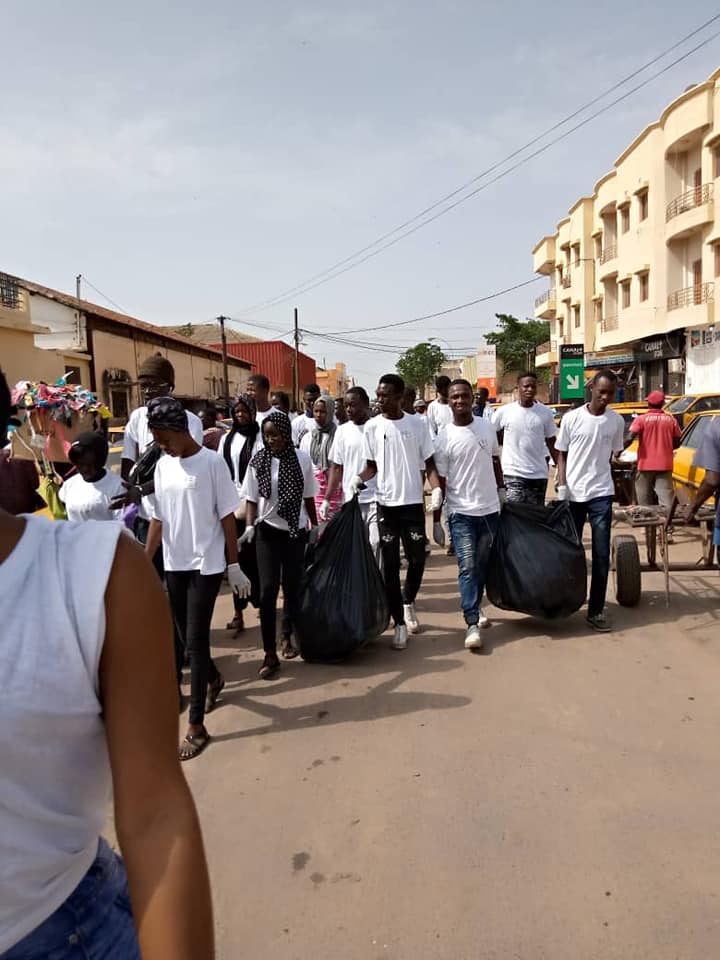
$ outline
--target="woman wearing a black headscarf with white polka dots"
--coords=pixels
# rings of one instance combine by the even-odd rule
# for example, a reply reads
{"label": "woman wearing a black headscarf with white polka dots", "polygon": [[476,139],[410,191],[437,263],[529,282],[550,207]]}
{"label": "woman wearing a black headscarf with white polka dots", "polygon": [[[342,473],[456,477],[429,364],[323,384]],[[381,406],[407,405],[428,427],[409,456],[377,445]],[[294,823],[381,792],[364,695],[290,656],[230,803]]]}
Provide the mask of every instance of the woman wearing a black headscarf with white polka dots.
{"label": "woman wearing a black headscarf with white polka dots", "polygon": [[[277,655],[277,597],[283,595],[292,620],[303,572],[308,526],[317,524],[316,485],[310,457],[295,450],[290,420],[279,410],[262,425],[263,449],[250,461],[245,474],[246,529],[240,544],[256,543],[260,579],[260,629],[265,656],[260,677],[269,680],[280,669]],[[289,634],[283,635],[282,654],[295,656]]]}

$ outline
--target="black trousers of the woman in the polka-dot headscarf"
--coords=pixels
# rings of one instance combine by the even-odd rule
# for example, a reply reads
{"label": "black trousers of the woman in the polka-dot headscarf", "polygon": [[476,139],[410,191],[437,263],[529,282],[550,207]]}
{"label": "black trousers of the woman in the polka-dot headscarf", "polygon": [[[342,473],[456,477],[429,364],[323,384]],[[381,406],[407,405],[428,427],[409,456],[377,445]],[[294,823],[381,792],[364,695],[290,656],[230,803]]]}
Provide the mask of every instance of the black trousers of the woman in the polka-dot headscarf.
{"label": "black trousers of the woman in the polka-dot headscarf", "polygon": [[282,583],[283,633],[290,632],[290,621],[300,597],[307,533],[303,530],[291,539],[287,530],[259,523],[255,534],[258,576],[260,579],[260,631],[265,653],[276,653],[277,598]]}

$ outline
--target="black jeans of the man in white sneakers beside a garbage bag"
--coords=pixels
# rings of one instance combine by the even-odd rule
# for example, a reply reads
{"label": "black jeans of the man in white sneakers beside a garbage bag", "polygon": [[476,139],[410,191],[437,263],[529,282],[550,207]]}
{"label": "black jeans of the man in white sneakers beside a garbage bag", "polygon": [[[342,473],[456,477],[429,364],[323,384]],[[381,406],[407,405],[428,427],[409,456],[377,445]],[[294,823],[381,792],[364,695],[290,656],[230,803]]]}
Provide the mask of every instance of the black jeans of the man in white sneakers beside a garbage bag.
{"label": "black jeans of the man in white sneakers beside a garbage bag", "polygon": [[[425,572],[425,512],[421,503],[404,507],[378,506],[380,550],[390,616],[405,623],[404,603],[414,603]],[[407,557],[405,586],[400,588],[400,543]]]}

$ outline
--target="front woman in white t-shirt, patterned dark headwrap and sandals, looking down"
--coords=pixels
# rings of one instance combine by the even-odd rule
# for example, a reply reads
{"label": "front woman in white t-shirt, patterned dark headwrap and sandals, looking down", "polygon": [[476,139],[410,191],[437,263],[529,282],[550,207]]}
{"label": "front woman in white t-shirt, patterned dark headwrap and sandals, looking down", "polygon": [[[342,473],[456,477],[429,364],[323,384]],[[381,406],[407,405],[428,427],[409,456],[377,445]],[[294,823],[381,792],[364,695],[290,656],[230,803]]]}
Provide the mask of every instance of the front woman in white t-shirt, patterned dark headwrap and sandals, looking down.
{"label": "front woman in white t-shirt, patterned dark headwrap and sandals, looking down", "polygon": [[190,659],[190,711],[179,756],[191,760],[210,741],[206,698],[212,708],[225,686],[210,657],[210,622],[226,566],[232,589],[243,597],[250,593],[250,580],[238,564],[235,510],[240,498],[217,453],[190,435],[179,400],[156,397],[148,403],[147,415],[153,437],[168,456],[160,457],[155,468],[145,550],[153,557],[162,542],[178,684],[185,653]]}

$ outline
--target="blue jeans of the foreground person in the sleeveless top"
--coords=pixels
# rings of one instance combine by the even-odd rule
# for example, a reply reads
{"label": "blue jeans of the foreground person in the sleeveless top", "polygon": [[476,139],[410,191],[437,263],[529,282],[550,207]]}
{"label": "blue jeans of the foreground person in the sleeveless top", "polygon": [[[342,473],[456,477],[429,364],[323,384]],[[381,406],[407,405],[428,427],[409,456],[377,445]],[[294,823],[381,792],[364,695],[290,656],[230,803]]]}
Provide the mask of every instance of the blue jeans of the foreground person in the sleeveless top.
{"label": "blue jeans of the foreground person in the sleeveless top", "polygon": [[0,960],[140,960],[125,866],[105,840],[65,903]]}

